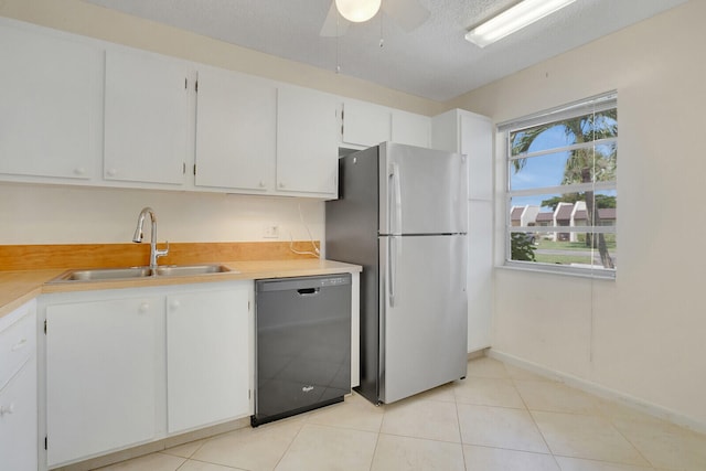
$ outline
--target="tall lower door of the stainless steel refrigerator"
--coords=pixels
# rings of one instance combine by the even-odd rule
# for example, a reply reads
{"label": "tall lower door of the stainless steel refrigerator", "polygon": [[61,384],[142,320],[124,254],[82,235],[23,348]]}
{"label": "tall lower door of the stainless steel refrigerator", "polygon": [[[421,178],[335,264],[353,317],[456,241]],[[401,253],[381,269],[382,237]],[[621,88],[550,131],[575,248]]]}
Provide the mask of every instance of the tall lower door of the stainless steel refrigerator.
{"label": "tall lower door of the stainless steel refrigerator", "polygon": [[379,399],[466,376],[466,236],[381,237]]}

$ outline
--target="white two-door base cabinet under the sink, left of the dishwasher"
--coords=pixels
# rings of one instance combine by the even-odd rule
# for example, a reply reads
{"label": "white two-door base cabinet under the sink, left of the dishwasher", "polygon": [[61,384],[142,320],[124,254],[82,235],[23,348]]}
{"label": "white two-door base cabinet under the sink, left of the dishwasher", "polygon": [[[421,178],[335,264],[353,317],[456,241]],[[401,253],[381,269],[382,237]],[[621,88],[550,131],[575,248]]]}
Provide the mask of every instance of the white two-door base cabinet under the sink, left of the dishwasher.
{"label": "white two-door base cabinet under the sink, left of the dishwasher", "polygon": [[244,280],[43,296],[47,467],[248,416],[252,292]]}

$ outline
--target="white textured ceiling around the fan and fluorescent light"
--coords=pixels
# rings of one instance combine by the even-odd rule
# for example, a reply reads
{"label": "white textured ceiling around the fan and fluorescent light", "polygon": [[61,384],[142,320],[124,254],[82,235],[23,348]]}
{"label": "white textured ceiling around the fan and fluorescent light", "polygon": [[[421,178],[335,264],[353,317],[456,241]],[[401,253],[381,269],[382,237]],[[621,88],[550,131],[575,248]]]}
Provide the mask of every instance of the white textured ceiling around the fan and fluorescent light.
{"label": "white textured ceiling around the fan and fluorescent light", "polygon": [[577,0],[485,49],[467,30],[516,0],[419,0],[431,15],[411,32],[378,13],[339,39],[319,35],[332,0],[85,1],[446,101],[686,0]]}

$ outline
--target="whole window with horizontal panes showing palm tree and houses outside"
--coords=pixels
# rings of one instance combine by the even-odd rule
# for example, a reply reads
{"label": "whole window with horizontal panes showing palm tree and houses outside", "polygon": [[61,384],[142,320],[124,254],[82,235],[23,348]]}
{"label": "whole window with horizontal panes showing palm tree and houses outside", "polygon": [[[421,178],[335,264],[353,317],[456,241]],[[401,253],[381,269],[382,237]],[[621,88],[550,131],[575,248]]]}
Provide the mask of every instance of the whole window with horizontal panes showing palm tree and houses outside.
{"label": "whole window with horizontal panes showing palm tree and houses outside", "polygon": [[614,277],[617,94],[501,124],[506,265]]}

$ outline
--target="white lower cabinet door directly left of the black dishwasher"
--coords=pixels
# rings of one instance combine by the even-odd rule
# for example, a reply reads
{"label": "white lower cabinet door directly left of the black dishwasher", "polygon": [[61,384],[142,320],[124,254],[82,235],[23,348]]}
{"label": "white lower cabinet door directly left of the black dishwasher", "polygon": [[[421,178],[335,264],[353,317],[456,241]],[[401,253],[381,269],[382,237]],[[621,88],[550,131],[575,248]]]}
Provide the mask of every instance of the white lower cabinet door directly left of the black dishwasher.
{"label": "white lower cabinet door directly left of the black dishwasher", "polygon": [[244,281],[223,291],[168,297],[170,433],[252,414],[250,290]]}

